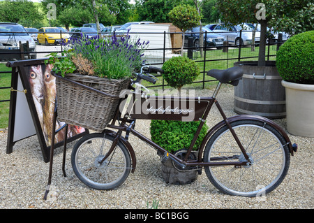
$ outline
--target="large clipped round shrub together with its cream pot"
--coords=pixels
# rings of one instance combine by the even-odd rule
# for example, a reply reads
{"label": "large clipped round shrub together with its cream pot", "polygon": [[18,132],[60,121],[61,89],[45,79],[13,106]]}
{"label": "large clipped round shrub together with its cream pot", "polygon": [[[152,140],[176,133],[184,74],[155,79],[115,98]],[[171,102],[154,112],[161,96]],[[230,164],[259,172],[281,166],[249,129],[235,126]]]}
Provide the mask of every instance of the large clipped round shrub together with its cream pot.
{"label": "large clipped round shrub together with its cream pot", "polygon": [[283,78],[287,131],[314,137],[314,31],[292,36],[277,52],[276,64]]}

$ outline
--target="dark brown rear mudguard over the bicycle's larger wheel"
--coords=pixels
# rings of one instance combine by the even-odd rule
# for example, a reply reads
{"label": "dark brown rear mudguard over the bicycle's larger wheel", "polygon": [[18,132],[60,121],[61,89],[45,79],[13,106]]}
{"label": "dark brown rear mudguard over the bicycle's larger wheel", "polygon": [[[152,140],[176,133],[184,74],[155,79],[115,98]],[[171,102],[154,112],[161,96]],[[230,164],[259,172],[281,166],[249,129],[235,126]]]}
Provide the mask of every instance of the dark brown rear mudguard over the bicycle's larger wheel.
{"label": "dark brown rear mudguard over the bicycle's larger wheel", "polygon": [[[289,136],[287,136],[285,131],[278,124],[276,124],[276,122],[273,122],[266,117],[257,116],[257,115],[235,115],[235,116],[227,118],[227,122],[229,122],[230,124],[232,124],[232,122],[237,122],[239,120],[254,120],[254,121],[260,121],[260,122],[266,122],[271,127],[274,127],[274,129],[279,131],[281,136],[283,136],[283,138],[285,138],[285,141],[287,142],[287,145],[289,147],[290,154],[292,156],[294,155],[293,152],[297,152],[297,144],[294,143],[292,145]],[[226,122],[223,120],[223,121],[219,122],[218,124],[216,124],[214,127],[212,127],[209,130],[209,132],[207,132],[207,135],[204,137],[202,144],[200,146],[199,160],[202,158],[202,153],[203,153],[204,147],[205,147],[207,141],[209,141],[209,138],[211,138],[211,136],[218,129],[220,129],[221,127],[224,127],[225,125],[226,125]]]}

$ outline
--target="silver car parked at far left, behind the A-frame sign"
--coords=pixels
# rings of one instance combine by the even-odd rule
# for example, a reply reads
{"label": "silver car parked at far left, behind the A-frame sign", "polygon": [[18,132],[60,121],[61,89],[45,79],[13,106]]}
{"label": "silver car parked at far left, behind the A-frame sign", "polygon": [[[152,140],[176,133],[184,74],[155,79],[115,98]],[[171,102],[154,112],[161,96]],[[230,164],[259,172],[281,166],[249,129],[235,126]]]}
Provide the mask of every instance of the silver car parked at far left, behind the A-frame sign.
{"label": "silver car parked at far left, behind the A-frame sign", "polygon": [[[36,43],[22,25],[13,22],[0,22],[1,51],[8,52],[10,50],[20,50],[19,43],[27,44],[27,41],[29,42],[29,51],[34,52]],[[36,58],[36,53],[31,53],[30,56],[31,58]],[[3,58],[4,57],[6,57],[6,55],[3,56]]]}

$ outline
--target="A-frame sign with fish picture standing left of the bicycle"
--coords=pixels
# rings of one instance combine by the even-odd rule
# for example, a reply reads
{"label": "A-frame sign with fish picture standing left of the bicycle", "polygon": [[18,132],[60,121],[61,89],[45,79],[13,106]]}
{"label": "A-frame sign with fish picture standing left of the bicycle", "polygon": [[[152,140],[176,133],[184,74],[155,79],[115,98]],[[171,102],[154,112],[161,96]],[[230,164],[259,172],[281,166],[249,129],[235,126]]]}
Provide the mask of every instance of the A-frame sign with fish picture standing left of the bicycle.
{"label": "A-frame sign with fish picture standing left of the bicycle", "polygon": [[[50,161],[52,120],[56,97],[55,78],[45,59],[8,62],[12,68],[7,153],[13,152],[17,141],[37,134],[45,162]],[[56,129],[64,126],[57,120]],[[66,132],[67,131],[67,132]],[[55,136],[54,148],[88,133],[88,129],[68,125]],[[66,137],[67,136],[67,137]]]}

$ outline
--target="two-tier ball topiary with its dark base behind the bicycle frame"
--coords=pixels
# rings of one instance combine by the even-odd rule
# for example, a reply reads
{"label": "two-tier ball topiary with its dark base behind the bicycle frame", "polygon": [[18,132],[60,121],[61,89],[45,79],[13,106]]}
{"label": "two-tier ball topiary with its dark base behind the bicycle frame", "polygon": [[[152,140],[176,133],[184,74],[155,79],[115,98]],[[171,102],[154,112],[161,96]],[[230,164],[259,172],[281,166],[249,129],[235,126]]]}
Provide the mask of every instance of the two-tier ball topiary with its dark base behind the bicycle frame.
{"label": "two-tier ball topiary with its dark base behind the bicycle frame", "polygon": [[[171,87],[179,89],[190,84],[200,73],[197,64],[187,57],[172,57],[163,64],[163,78]],[[151,140],[165,148],[165,150],[177,155],[184,156],[184,150],[188,150],[193,136],[197,131],[200,122],[181,122],[173,120],[152,120]],[[194,149],[200,146],[202,139],[207,133],[207,126],[204,124],[200,136],[197,138]],[[191,154],[191,159],[193,159]],[[197,178],[195,169],[183,171],[168,159],[161,164],[162,175],[165,182],[170,184],[186,184]]]}

